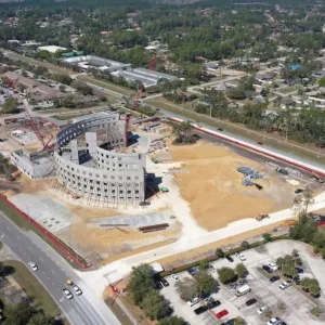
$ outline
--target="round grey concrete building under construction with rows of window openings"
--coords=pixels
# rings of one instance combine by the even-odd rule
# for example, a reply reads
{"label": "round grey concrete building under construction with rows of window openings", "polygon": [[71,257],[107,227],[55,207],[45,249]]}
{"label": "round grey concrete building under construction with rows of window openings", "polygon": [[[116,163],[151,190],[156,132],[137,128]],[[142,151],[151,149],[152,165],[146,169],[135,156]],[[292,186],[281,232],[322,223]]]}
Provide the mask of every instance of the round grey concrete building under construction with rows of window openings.
{"label": "round grey concrete building under construction with rows of window openings", "polygon": [[[49,155],[54,162],[56,185],[89,203],[144,202],[145,155],[128,153],[126,127],[126,119],[118,113],[99,113],[79,117],[60,130],[56,148]],[[25,171],[18,158],[15,154],[12,160]],[[29,177],[46,178],[46,173],[49,168],[42,174]]]}

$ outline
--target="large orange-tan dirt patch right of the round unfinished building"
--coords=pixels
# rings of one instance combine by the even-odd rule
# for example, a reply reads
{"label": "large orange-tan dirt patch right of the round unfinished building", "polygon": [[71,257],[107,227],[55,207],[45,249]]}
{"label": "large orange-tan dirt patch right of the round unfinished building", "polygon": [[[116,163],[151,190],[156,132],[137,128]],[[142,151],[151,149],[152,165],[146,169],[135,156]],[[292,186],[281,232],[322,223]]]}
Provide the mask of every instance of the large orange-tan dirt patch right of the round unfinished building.
{"label": "large orange-tan dirt patch right of the round unfinished building", "polygon": [[[183,162],[184,170],[188,170],[174,178],[181,195],[190,204],[197,223],[208,231],[235,220],[281,210],[292,203],[295,187],[265,164],[204,141],[171,145],[170,150],[173,161]],[[269,176],[269,181],[257,181],[263,190],[242,184],[243,174],[236,170],[242,166],[251,166]]]}

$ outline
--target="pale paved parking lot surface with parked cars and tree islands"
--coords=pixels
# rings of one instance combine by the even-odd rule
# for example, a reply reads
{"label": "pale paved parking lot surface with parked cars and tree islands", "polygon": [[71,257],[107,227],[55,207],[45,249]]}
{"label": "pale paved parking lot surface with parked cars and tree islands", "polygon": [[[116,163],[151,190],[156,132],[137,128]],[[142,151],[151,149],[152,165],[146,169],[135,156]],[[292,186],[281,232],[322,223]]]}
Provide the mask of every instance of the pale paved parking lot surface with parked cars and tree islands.
{"label": "pale paved parking lot surface with parked cars and tree islands", "polygon": [[[285,249],[284,249],[285,248]],[[320,281],[321,288],[323,285],[323,278],[320,280],[317,275],[320,270],[315,270],[310,266],[311,259],[316,259],[311,256],[308,250],[308,246],[302,243],[291,242],[291,240],[281,240],[275,243],[270,243],[262,247],[250,249],[245,251],[246,261],[243,263],[249,271],[247,276],[248,285],[251,288],[251,291],[245,296],[236,297],[236,289],[230,289],[227,286],[220,286],[218,292],[212,294],[211,296],[216,300],[220,300],[221,306],[214,308],[209,312],[205,312],[200,315],[196,315],[194,310],[202,306],[199,302],[194,307],[190,307],[185,301],[183,301],[176,289],[176,281],[170,276],[167,277],[170,286],[165,287],[161,290],[161,294],[170,300],[172,307],[174,308],[174,314],[182,316],[192,325],[202,324],[202,325],[212,325],[220,324],[221,322],[217,320],[216,313],[220,312],[223,309],[229,311],[229,314],[222,318],[222,322],[225,322],[237,316],[242,316],[246,320],[247,324],[251,325],[261,325],[266,324],[269,318],[265,315],[258,315],[258,309],[266,306],[270,311],[272,311],[272,317],[278,316],[288,325],[321,325],[325,324],[325,299],[322,295],[318,299],[321,310],[323,310],[323,316],[320,318],[313,317],[310,311],[315,307],[314,302],[308,299],[302,292],[300,292],[296,287],[291,286],[285,290],[280,288],[282,280],[271,283],[269,278],[261,272],[261,266],[268,262],[275,262],[276,259],[284,255],[290,255],[292,249],[298,249],[300,258],[303,261],[304,273],[302,276],[308,275],[309,277],[316,277]],[[284,251],[285,250],[285,251]],[[235,268],[239,263],[239,259],[235,256],[234,262],[229,262],[226,259],[222,259],[212,263],[216,269],[222,266]],[[320,262],[320,261],[317,261]],[[316,266],[323,265],[322,269],[325,269],[325,262],[322,264],[316,264]],[[218,278],[217,272],[211,272],[211,275],[214,278]],[[180,280],[191,277],[187,272],[182,272],[178,274]],[[247,307],[246,301],[255,298],[257,303]]]}

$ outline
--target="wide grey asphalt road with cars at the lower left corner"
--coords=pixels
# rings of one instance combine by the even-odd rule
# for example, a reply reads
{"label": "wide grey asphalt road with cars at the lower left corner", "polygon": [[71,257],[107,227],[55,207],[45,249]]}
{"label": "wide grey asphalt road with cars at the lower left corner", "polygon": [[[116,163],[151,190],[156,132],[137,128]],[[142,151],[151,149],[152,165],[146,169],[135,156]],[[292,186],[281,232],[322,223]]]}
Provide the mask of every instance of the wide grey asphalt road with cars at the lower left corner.
{"label": "wide grey asphalt road with cars at the lower left corner", "polygon": [[[34,240],[34,236],[37,238],[32,232],[23,232],[0,212],[0,240],[27,266],[29,261],[39,266],[34,272],[35,276],[51,294],[72,325],[120,325],[104,302],[76,276],[73,268],[48,244],[39,238]],[[68,288],[68,278],[82,290],[81,296],[74,295],[72,300],[67,300],[62,291],[64,287]]]}

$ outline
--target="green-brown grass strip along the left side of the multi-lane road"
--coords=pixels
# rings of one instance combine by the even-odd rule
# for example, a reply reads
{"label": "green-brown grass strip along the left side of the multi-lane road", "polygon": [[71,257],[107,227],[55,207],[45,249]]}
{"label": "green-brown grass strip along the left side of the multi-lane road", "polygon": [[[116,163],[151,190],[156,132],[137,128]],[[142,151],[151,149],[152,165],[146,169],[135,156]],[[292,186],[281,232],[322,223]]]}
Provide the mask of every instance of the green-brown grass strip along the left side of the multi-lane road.
{"label": "green-brown grass strip along the left side of the multi-lane road", "polygon": [[42,309],[49,316],[57,316],[61,310],[44,287],[38,282],[35,275],[25,264],[18,261],[5,261],[4,265],[13,266],[15,272],[11,275],[22,287],[25,294],[31,299],[36,309]]}

